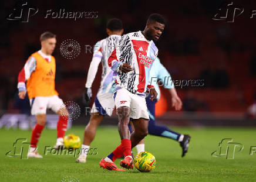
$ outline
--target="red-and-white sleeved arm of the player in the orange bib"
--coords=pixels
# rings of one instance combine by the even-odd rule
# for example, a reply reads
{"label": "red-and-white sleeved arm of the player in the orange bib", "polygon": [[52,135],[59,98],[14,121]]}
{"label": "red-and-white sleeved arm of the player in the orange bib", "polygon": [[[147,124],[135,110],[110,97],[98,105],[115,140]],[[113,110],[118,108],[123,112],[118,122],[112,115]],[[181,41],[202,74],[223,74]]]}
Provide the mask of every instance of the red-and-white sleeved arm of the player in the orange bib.
{"label": "red-and-white sleeved arm of the player in the orange bib", "polygon": [[26,61],[25,66],[19,72],[18,75],[18,90],[19,90],[19,98],[24,99],[26,95],[26,80],[31,77],[33,71],[36,70],[36,59],[35,57],[29,57],[28,61]]}

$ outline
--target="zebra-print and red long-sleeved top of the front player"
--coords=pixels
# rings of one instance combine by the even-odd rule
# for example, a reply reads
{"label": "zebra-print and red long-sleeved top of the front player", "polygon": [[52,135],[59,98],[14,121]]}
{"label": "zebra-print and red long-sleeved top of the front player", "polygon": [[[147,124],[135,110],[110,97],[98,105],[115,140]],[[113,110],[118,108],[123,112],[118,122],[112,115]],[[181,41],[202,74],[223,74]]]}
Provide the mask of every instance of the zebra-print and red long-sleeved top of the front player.
{"label": "zebra-print and red long-sleeved top of the front player", "polygon": [[[133,94],[144,96],[149,84],[149,73],[153,61],[156,59],[158,49],[153,40],[147,40],[142,32],[128,33],[122,36],[116,49],[109,57],[109,67],[114,71],[113,79],[116,90],[126,88]],[[122,63],[129,64],[133,70],[123,73],[119,70]]]}

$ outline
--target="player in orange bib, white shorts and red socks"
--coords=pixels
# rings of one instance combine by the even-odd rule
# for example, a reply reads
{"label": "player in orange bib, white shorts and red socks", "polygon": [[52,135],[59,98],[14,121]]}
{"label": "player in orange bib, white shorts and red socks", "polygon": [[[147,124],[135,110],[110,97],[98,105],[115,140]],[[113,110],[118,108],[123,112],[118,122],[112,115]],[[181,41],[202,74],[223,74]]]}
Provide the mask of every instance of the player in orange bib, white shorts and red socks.
{"label": "player in orange bib, white shorts and red socks", "polygon": [[[37,144],[46,122],[46,109],[59,115],[57,142],[55,148],[63,146],[63,136],[68,124],[68,111],[55,90],[55,58],[52,53],[56,45],[56,35],[51,32],[40,36],[41,50],[33,53],[19,72],[19,98],[24,99],[26,91],[31,104],[31,114],[36,116],[36,125],[31,136],[28,157],[42,158],[37,152]],[[25,84],[26,82],[26,84]]]}

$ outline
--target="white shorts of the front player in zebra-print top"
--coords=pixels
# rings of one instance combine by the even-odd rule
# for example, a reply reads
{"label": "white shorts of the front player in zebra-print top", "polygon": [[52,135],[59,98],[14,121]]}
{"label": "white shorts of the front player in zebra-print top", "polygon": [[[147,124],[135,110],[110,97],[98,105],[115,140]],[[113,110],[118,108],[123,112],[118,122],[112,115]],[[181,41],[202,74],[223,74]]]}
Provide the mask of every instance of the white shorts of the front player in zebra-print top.
{"label": "white shorts of the front player in zebra-print top", "polygon": [[130,118],[149,119],[149,112],[147,111],[146,99],[143,96],[132,94],[128,90],[122,88],[113,94],[114,104],[116,109],[122,106],[130,108]]}

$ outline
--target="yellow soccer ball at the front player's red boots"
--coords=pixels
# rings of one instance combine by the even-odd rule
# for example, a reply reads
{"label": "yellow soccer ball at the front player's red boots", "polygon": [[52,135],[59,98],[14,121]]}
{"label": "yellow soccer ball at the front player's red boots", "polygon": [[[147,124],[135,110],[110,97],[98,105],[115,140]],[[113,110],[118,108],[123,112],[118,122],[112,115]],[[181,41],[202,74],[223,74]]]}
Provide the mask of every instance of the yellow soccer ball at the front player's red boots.
{"label": "yellow soccer ball at the front player's red boots", "polygon": [[133,159],[134,166],[141,172],[149,172],[156,167],[156,159],[149,152],[140,152]]}

